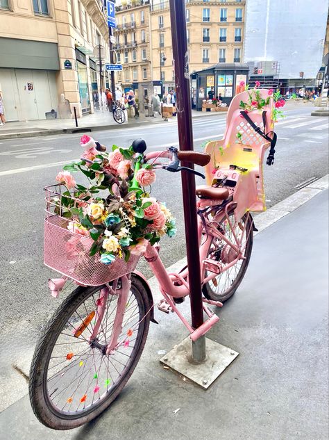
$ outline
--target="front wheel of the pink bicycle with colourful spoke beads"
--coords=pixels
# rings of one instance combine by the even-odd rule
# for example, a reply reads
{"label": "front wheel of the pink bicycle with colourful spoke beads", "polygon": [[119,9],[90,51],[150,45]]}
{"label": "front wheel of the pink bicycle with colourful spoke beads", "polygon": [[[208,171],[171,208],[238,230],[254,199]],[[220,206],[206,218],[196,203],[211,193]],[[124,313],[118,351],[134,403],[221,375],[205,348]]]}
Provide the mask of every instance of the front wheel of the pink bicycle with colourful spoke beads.
{"label": "front wheel of the pink bicycle with colourful spoke beads", "polygon": [[91,421],[115,400],[133,373],[149,331],[150,305],[143,284],[135,277],[131,282],[122,331],[110,355],[106,345],[117,295],[107,296],[97,343],[90,337],[95,311],[106,298],[102,286],[76,288],[44,329],[31,365],[29,393],[33,412],[47,427],[69,430]]}

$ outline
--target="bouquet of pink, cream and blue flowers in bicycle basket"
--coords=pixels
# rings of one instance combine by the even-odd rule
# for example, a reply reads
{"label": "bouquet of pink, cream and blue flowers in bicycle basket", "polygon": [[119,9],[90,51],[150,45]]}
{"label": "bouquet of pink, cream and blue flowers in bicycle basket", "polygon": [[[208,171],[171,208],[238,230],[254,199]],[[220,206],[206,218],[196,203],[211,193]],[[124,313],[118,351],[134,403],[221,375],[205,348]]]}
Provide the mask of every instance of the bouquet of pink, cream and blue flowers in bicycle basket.
{"label": "bouquet of pink, cream and blue flowers in bicycle basket", "polygon": [[[127,262],[130,254],[142,255],[148,243],[154,245],[165,234],[176,234],[170,211],[146,191],[155,182],[152,165],[142,164],[135,173],[140,189],[130,189],[138,156],[132,147],[114,145],[112,152],[101,152],[105,148],[86,135],[81,146],[81,161],[65,165],[56,177],[64,188],[60,199],[51,200],[54,213],[74,233],[66,242],[68,255],[76,255],[83,237],[88,237],[92,238],[92,245],[85,249],[89,256],[106,265],[117,259]],[[89,184],[77,184],[74,172],[85,174]]]}

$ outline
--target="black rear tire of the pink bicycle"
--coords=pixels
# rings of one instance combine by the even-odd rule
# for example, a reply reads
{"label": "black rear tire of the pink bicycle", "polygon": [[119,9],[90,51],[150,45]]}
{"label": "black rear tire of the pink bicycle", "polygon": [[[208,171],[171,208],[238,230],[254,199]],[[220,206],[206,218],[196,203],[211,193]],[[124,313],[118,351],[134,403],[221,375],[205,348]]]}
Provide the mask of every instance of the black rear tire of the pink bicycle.
{"label": "black rear tire of the pink bicycle", "polygon": [[[242,220],[246,221],[246,214],[242,217]],[[222,223],[225,221],[226,219],[223,218],[219,224],[219,226],[222,225]],[[234,295],[234,293],[237,291],[237,288],[239,287],[239,285],[242,282],[242,279],[244,278],[244,275],[246,273],[246,270],[248,268],[248,264],[251,258],[251,251],[253,250],[253,218],[251,217],[251,215],[248,215],[247,218],[247,226],[246,226],[246,236],[247,238],[247,243],[246,243],[246,247],[245,247],[245,252],[244,252],[244,256],[246,257],[246,259],[242,260],[242,264],[239,268],[239,271],[237,272],[235,279],[233,280],[233,282],[231,282],[230,286],[223,291],[222,293],[216,293],[214,291],[214,289],[212,288],[212,284],[214,284],[212,281],[207,282],[206,284],[203,285],[203,295],[205,295],[205,298],[208,298],[208,300],[213,300],[213,301],[220,301],[220,302],[225,302],[226,300],[228,300],[228,298],[230,298],[231,296]],[[211,247],[213,245],[213,243],[216,241],[215,238],[212,238],[212,241],[210,243],[209,246],[209,250],[208,250],[208,258],[210,258],[210,250]],[[214,251],[216,252],[216,251]],[[220,258],[217,258],[217,260],[219,260]],[[235,266],[232,266],[232,268],[234,268]],[[228,269],[230,270],[230,269]],[[221,274],[219,274],[217,277],[215,277],[215,280],[219,279],[219,277],[224,276],[227,277],[226,272],[221,272]],[[228,280],[230,281],[230,280]],[[218,282],[217,282],[218,283]]]}

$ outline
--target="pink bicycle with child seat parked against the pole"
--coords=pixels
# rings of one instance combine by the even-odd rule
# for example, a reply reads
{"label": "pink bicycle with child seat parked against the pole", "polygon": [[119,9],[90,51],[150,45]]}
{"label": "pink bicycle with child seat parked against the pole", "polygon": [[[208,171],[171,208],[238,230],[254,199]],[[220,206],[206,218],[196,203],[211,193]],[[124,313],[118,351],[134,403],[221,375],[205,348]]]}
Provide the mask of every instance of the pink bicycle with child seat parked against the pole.
{"label": "pink bicycle with child seat parked against the pole", "polygon": [[[238,95],[239,99],[244,93]],[[264,209],[262,161],[273,139],[265,133],[265,125],[272,124],[270,104],[265,111],[249,115],[250,123],[231,104],[224,139],[209,142],[205,153],[178,152],[171,147],[145,154],[144,141],[135,141],[133,145],[140,163],[152,162],[155,169],[184,169],[199,174],[181,168],[180,161],[205,166],[208,186],[196,189],[203,310],[207,315],[201,327],[192,328],[178,309],[178,304],[189,295],[187,268],[167,273],[158,245],[149,243],[144,252],[164,297],[158,308],[167,313],[174,311],[192,341],[217,323],[219,318],[210,305],[221,307],[235,293],[248,267],[255,230],[250,211]],[[253,124],[260,127],[255,133]],[[262,140],[264,136],[268,137],[266,142]],[[272,143],[272,162],[273,147]],[[64,276],[49,280],[49,287],[57,297],[65,284],[75,282],[78,286],[54,313],[37,343],[31,366],[30,398],[35,415],[44,425],[67,430],[91,421],[115,400],[142,355],[150,321],[156,321],[151,288],[135,270],[139,256],[130,258],[128,263],[115,262],[110,270],[103,270],[104,265],[95,266],[99,263],[83,251],[83,241],[90,238],[78,234],[75,235],[81,248],[75,260],[65,252],[56,253],[58,243],[67,240],[68,234],[63,227],[67,222],[64,211],[50,214],[54,196],[56,206],[65,208],[66,196],[59,187],[46,188],[45,263]],[[80,263],[86,259],[81,267],[87,267],[87,272],[79,272],[76,258]]]}

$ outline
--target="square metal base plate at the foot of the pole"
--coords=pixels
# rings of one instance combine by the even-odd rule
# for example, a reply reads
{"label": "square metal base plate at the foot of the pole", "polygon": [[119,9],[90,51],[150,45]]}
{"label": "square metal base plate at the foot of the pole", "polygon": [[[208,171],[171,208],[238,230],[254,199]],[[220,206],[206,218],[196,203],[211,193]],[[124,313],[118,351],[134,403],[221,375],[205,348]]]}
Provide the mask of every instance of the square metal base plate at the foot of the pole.
{"label": "square metal base plate at the foot of the pole", "polygon": [[239,353],[208,338],[205,338],[205,352],[207,358],[202,364],[193,363],[192,341],[187,336],[162,357],[160,362],[202,386],[203,389],[208,389],[223,370],[239,356]]}

